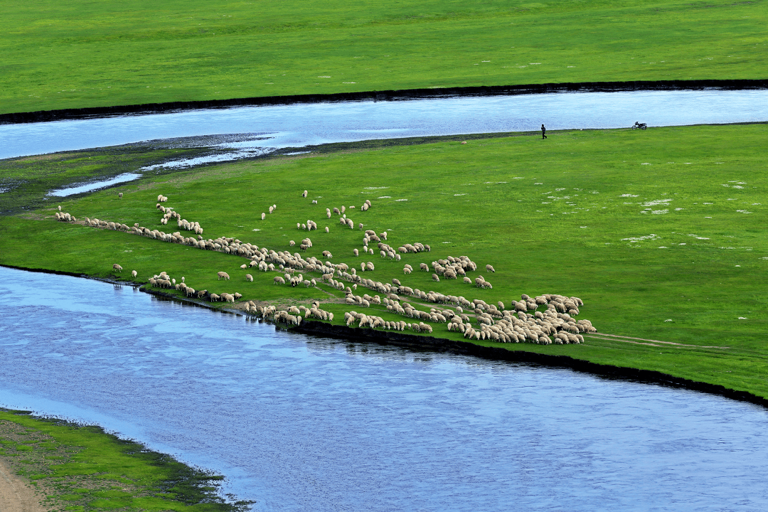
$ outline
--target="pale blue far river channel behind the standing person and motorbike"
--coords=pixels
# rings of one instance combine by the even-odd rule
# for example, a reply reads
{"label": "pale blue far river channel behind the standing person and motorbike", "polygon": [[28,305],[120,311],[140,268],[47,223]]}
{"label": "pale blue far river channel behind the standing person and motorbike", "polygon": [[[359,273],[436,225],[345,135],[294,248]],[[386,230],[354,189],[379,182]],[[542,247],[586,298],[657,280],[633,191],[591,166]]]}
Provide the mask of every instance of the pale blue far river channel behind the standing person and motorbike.
{"label": "pale blue far river channel behind the standing person and motorbike", "polygon": [[[218,147],[233,158],[264,150],[356,140],[571,128],[768,121],[768,90],[634,91],[435,97],[232,107],[0,125],[0,158],[239,134]],[[261,140],[266,137],[266,140]],[[239,153],[239,155],[237,154]]]}

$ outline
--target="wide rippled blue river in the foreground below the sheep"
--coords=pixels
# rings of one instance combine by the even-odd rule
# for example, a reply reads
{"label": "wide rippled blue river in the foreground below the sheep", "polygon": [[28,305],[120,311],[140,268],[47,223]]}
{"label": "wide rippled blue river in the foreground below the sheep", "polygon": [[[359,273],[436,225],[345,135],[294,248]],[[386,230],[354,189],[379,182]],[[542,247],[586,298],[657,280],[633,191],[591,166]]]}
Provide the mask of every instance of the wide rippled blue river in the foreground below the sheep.
{"label": "wide rippled blue river in the foreground below the sheep", "polygon": [[2,267],[0,405],[220,471],[254,510],[768,509],[754,405]]}

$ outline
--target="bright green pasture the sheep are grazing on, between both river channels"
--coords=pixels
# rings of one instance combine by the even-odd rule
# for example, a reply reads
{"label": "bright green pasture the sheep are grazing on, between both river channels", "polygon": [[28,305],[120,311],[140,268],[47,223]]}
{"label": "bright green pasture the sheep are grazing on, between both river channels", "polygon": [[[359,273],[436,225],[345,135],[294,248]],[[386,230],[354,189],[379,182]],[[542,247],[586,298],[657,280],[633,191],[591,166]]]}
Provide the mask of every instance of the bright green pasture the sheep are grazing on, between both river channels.
{"label": "bright green pasture the sheep are grazing on, between both river channels", "polygon": [[[80,219],[172,233],[177,226],[162,226],[155,208],[162,193],[169,197],[166,206],[203,226],[206,239],[230,236],[293,253],[310,236],[305,258],[320,258],[327,249],[333,263],[347,263],[375,281],[396,278],[423,291],[507,307],[521,293],[578,296],[585,302],[578,318],[590,319],[599,332],[697,345],[588,337],[584,345],[498,346],[656,370],[768,397],[766,135],[766,124],[572,130],[551,132],[547,140],[440,140],[208,166],[53,203],[35,211],[43,220],[3,217],[0,263],[127,280],[135,269],[137,282],[166,271],[184,276],[194,289],[240,292],[243,300],[320,300],[334,323],[343,323],[350,310],[412,322],[383,307],[348,306],[343,292],[326,285],[273,285],[280,274],[241,270],[248,261],[242,257],[51,219],[61,204]],[[362,212],[366,199],[372,208]],[[261,220],[272,204],[275,212]],[[339,226],[336,215],[326,219],[326,207],[342,205],[354,230]],[[306,220],[319,230],[296,230]],[[421,242],[432,252],[404,254],[400,263],[378,252],[355,257],[353,249],[362,249],[358,223],[386,230],[393,247]],[[462,279],[433,282],[431,270],[419,271],[419,263],[462,255],[478,263],[468,276],[484,276],[493,289]],[[376,269],[360,272],[359,264],[368,261]],[[113,263],[124,271],[112,272]],[[404,275],[404,263],[414,267],[412,274]],[[486,272],[486,264],[496,272]],[[231,280],[220,281],[218,271]],[[363,293],[381,295],[359,286],[355,294]],[[419,309],[447,307],[401,299]],[[432,327],[433,336],[462,339],[445,324]]]}

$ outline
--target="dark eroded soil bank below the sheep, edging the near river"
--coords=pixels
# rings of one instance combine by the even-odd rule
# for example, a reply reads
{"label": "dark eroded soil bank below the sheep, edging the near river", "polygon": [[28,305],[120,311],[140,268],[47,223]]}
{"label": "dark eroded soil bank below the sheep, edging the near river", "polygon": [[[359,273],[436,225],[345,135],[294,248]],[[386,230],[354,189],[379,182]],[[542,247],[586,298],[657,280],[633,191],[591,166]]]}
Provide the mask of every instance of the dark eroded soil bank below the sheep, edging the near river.
{"label": "dark eroded soil bank below the sheep, edging the near river", "polygon": [[[111,282],[112,284],[124,286],[139,286],[131,281],[117,281],[107,278],[97,278],[87,276],[81,273],[68,273],[57,270],[46,269],[28,269],[20,266],[0,265],[9,269],[27,270],[29,272],[39,272],[48,274],[58,274],[61,276],[84,277],[87,279],[96,279],[102,282]],[[210,308],[205,302],[197,300],[184,299],[161,290],[151,289],[148,286],[139,288],[142,292],[160,297],[167,300],[184,302],[194,306]],[[237,315],[243,313],[236,310],[218,309],[222,312],[230,312]],[[267,321],[269,322],[269,321]],[[271,323],[271,322],[270,322]],[[737,401],[747,401],[752,404],[762,405],[768,408],[768,398],[754,395],[749,391],[737,391],[717,384],[708,384],[707,382],[692,381],[688,378],[675,377],[655,370],[641,370],[638,368],[629,368],[626,366],[602,365],[600,363],[589,362],[584,359],[573,358],[570,355],[550,355],[540,354],[538,352],[528,352],[522,350],[509,350],[501,347],[485,347],[475,345],[472,342],[457,342],[451,339],[435,338],[434,336],[418,336],[397,331],[375,331],[373,329],[355,329],[346,325],[332,325],[325,322],[307,320],[301,322],[296,327],[286,328],[283,325],[275,324],[278,329],[286,329],[290,332],[300,332],[304,335],[322,336],[333,339],[346,339],[356,342],[375,342],[383,345],[396,345],[406,348],[430,349],[436,352],[449,352],[458,355],[475,355],[476,357],[492,359],[495,361],[508,362],[527,362],[551,368],[571,368],[577,372],[589,373],[591,375],[600,375],[607,378],[621,378],[633,382],[644,382],[649,384],[667,385],[674,388],[685,388],[692,391],[709,393],[710,395],[720,395]]]}

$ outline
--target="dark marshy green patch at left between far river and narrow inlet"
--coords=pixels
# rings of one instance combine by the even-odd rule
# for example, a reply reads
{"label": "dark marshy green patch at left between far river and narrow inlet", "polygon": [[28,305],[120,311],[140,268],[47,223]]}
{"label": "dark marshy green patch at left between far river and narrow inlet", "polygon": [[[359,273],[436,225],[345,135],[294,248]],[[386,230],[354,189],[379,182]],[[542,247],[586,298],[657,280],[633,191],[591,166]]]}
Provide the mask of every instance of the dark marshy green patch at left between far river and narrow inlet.
{"label": "dark marshy green patch at left between far river and narrow inlet", "polygon": [[[52,190],[110,180],[169,159],[195,157],[206,148],[153,148],[139,144],[0,160],[0,215],[45,206]],[[168,173],[172,170],[156,170]]]}

